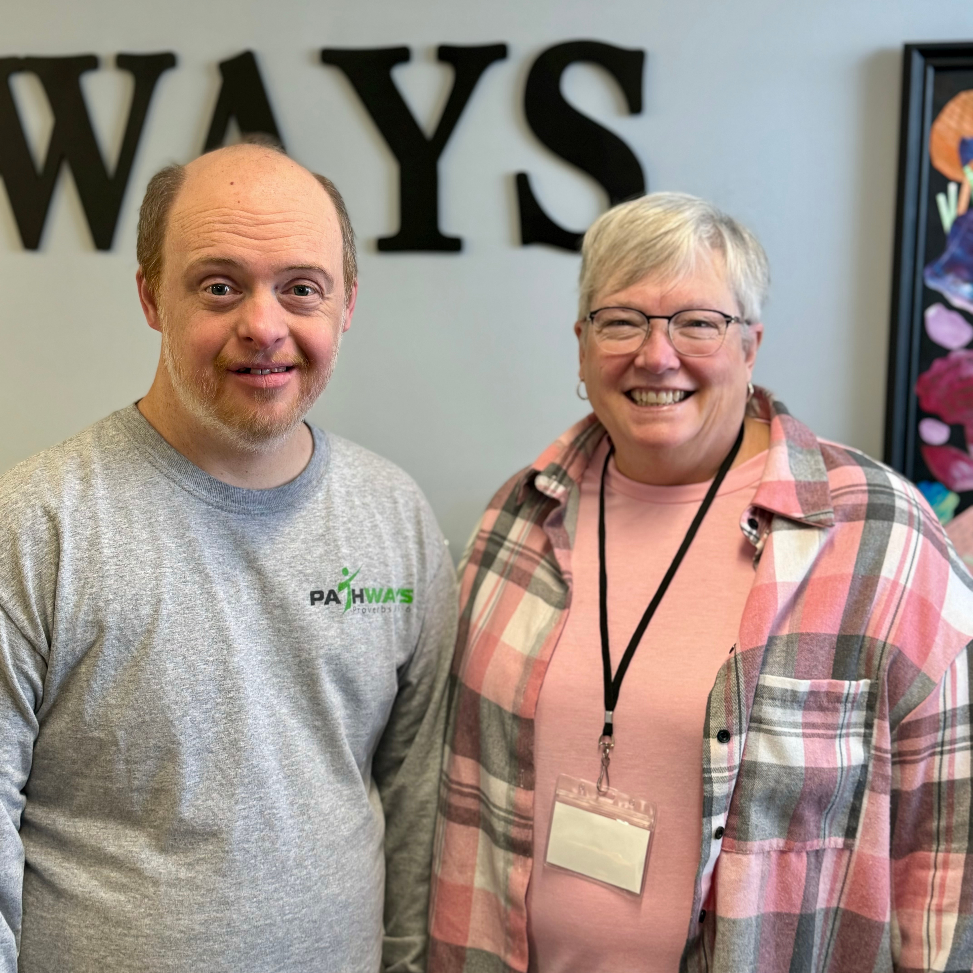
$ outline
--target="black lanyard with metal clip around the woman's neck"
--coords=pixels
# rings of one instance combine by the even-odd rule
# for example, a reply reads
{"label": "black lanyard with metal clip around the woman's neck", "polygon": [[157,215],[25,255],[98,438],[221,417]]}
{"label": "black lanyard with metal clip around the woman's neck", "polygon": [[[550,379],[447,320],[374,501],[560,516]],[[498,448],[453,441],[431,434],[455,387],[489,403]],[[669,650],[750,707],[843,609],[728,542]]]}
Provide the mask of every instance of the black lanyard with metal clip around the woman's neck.
{"label": "black lanyard with metal clip around the woman's neck", "polygon": [[679,565],[682,563],[682,559],[686,556],[686,552],[689,550],[690,544],[693,543],[693,538],[696,537],[696,532],[700,529],[700,524],[703,523],[703,518],[706,516],[710,506],[712,506],[713,500],[716,499],[717,491],[719,490],[720,486],[722,486],[723,481],[726,479],[727,473],[730,472],[730,467],[733,466],[733,461],[737,458],[737,453],[739,452],[740,444],[742,444],[742,442],[743,426],[740,425],[737,442],[734,443],[733,449],[727,453],[726,459],[723,460],[719,470],[717,470],[716,476],[713,478],[712,485],[706,491],[705,499],[703,499],[703,503],[700,504],[700,509],[697,511],[696,517],[693,518],[693,523],[689,525],[689,530],[686,531],[686,536],[683,538],[679,550],[672,559],[672,563],[668,566],[666,576],[660,583],[656,594],[653,595],[652,600],[649,602],[649,607],[645,609],[645,614],[642,615],[642,620],[638,623],[638,627],[632,633],[629,641],[629,647],[625,650],[625,655],[622,656],[622,661],[618,664],[618,671],[615,673],[614,679],[612,678],[611,674],[611,653],[608,650],[608,572],[605,567],[605,474],[608,471],[608,461],[611,459],[612,454],[615,451],[614,444],[609,447],[608,455],[605,456],[605,464],[601,469],[601,493],[598,500],[598,594],[600,595],[601,609],[601,664],[603,668],[605,687],[605,725],[601,731],[601,738],[598,740],[598,745],[602,750],[602,774],[606,778],[607,761],[605,758],[607,758],[607,752],[605,748],[607,747],[610,749],[610,747],[614,745],[612,722],[614,719],[615,706],[618,703],[618,694],[622,689],[622,680],[625,678],[625,673],[628,670],[631,659],[635,654],[635,649],[638,648],[638,643],[642,640],[642,635],[645,634],[645,630],[649,627],[649,623],[652,621],[652,616],[655,615],[656,609],[659,607],[659,603],[663,599],[663,595],[665,595],[667,592],[669,583],[675,576],[675,572],[679,569]]}

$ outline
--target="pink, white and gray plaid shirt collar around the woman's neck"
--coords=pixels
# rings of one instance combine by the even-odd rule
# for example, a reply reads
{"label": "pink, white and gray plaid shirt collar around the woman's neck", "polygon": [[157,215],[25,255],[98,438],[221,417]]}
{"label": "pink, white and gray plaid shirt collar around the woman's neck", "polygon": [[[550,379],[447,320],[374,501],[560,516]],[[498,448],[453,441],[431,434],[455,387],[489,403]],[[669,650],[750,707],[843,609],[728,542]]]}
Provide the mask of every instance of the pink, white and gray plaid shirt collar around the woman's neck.
{"label": "pink, white and gray plaid shirt collar around the woman's neck", "polygon": [[[811,429],[787,412],[773,392],[759,386],[754,388],[747,414],[771,423],[770,451],[753,506],[798,523],[833,526],[835,511],[828,470]],[[519,500],[523,502],[532,485],[545,496],[565,503],[570,492],[580,488],[605,435],[605,427],[594,413],[576,422],[528,468]]]}

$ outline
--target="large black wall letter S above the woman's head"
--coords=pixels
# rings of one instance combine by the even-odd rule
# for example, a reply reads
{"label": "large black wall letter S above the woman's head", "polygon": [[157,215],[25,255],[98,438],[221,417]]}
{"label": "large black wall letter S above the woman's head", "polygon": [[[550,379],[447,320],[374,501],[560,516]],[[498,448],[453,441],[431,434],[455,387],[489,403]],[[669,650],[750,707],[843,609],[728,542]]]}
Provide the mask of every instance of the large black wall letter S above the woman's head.
{"label": "large black wall letter S above the woman's head", "polygon": [[[583,169],[604,187],[611,204],[645,192],[642,167],[629,146],[572,108],[560,93],[560,77],[569,64],[600,64],[618,81],[632,115],[642,110],[644,51],[627,51],[597,41],[569,41],[542,52],[527,75],[523,110],[533,133],[561,159]],[[559,227],[530,190],[526,172],[517,173],[517,200],[521,211],[521,241],[550,243],[565,250],[581,247],[584,234]]]}

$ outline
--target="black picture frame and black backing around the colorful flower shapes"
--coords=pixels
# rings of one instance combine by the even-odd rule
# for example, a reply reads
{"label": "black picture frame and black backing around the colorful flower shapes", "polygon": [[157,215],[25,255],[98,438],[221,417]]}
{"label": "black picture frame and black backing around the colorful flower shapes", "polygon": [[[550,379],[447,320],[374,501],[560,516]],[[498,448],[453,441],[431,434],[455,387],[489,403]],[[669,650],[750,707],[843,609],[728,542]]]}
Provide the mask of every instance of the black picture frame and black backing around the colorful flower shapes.
{"label": "black picture frame and black backing around the colorful flower shapes", "polygon": [[[926,266],[945,253],[948,237],[936,197],[949,188],[949,180],[930,158],[929,139],[944,106],[965,90],[973,90],[973,41],[905,45],[884,459],[922,486],[936,478],[923,458],[919,422],[934,414],[921,409],[916,383],[931,361],[948,353],[929,338],[923,315],[936,303],[951,313],[957,310],[923,277]],[[973,324],[973,312],[960,313]],[[953,425],[943,445],[967,450],[973,446],[966,442],[968,431],[968,426]],[[955,492],[958,503],[953,497],[945,516],[937,510],[944,521],[973,505],[973,489]]]}

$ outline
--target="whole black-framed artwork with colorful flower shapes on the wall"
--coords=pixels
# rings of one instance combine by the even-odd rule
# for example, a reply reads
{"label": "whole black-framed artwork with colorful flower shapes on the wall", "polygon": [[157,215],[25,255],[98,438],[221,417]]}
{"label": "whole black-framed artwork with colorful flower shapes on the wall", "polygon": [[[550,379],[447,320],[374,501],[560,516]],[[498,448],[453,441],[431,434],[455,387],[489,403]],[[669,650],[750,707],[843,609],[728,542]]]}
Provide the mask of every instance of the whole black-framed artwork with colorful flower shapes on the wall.
{"label": "whole black-framed artwork with colorful flower shapes on the wall", "polygon": [[973,41],[907,44],[885,461],[943,523],[973,508],[971,195]]}

